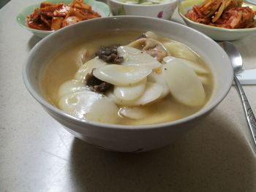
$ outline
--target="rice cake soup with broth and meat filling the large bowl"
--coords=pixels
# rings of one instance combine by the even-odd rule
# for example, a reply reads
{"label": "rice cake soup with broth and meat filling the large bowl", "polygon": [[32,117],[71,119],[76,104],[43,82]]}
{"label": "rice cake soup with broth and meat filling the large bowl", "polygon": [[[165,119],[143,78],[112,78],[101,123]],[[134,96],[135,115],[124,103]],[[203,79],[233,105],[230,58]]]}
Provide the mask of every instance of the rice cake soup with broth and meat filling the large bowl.
{"label": "rice cake soup with broth and meat filling the large bowl", "polygon": [[48,62],[42,90],[77,118],[142,125],[197,112],[212,82],[208,66],[186,45],[151,31],[118,31],[62,50]]}

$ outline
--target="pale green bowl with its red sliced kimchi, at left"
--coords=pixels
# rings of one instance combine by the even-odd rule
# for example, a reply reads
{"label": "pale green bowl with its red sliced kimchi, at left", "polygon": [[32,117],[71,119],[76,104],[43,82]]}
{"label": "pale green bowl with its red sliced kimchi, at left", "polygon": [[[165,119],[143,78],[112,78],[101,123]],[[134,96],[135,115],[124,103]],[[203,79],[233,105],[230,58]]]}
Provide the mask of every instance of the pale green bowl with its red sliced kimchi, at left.
{"label": "pale green bowl with its red sliced kimchi, at left", "polygon": [[94,0],[49,0],[25,7],[18,13],[18,24],[44,38],[54,31],[93,18],[110,15],[107,4]]}

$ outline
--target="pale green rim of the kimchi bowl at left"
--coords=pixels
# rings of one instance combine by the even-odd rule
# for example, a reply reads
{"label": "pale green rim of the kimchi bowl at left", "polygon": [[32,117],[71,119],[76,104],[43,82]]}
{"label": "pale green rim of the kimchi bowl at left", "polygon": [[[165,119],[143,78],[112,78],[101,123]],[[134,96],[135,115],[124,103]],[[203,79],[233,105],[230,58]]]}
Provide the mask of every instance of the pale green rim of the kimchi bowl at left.
{"label": "pale green rim of the kimchi bowl at left", "polygon": [[[64,2],[66,4],[66,1],[72,1],[72,0],[48,0],[49,2],[53,2],[53,3],[60,3],[60,2]],[[108,6],[108,4],[105,4],[102,1],[97,1],[97,0],[83,0],[86,1],[86,4],[90,4],[90,2],[94,2],[97,5],[100,5],[100,7],[104,6],[106,10],[108,10],[108,13],[105,17],[109,17],[111,15],[110,12],[110,7]],[[40,34],[52,34],[53,32],[55,32],[54,30],[39,30],[39,29],[35,29],[35,28],[29,28],[29,26],[26,25],[26,18],[29,15],[24,16],[23,12],[26,12],[26,9],[35,9],[36,7],[40,6],[40,3],[36,3],[36,4],[31,4],[27,7],[23,7],[23,9],[20,10],[20,12],[18,12],[18,14],[15,17],[16,22],[19,24],[19,26],[21,26],[22,28],[25,28],[29,31],[32,31],[33,33],[40,33]],[[90,4],[91,5],[91,4]],[[32,13],[32,12],[31,12]],[[103,18],[105,18],[103,17]],[[25,23],[21,22],[20,20],[22,20],[24,18]],[[91,19],[90,19],[91,20]]]}

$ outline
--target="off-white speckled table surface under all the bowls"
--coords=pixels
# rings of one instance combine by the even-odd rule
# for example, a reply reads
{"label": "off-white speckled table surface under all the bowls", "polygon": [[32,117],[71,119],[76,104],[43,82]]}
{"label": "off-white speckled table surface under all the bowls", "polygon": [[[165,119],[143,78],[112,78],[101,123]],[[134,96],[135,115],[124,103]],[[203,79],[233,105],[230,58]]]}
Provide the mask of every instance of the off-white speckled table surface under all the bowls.
{"label": "off-white speckled table surface under all the bowls", "polygon": [[[256,159],[241,101],[231,88],[184,137],[148,153],[110,153],[76,139],[23,85],[23,62],[39,42],[15,15],[37,0],[0,9],[0,191],[256,191]],[[177,12],[173,20],[181,22]],[[255,68],[256,34],[233,42]],[[255,112],[256,86],[244,90]]]}

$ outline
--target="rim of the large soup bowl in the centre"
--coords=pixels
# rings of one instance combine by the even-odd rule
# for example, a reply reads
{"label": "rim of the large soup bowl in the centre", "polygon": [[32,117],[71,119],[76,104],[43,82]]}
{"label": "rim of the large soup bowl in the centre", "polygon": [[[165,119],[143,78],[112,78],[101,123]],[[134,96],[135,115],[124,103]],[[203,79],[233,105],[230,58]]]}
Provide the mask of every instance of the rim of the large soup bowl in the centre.
{"label": "rim of the large soup bowl in the centre", "polygon": [[198,112],[193,113],[192,115],[189,115],[185,118],[181,118],[178,120],[173,120],[170,122],[166,122],[166,123],[156,123],[156,124],[148,124],[148,125],[120,125],[120,124],[110,124],[110,123],[99,123],[96,121],[91,121],[91,120],[83,120],[83,119],[79,119],[79,118],[75,118],[72,115],[69,115],[67,113],[65,113],[62,110],[59,110],[59,108],[54,107],[52,104],[50,104],[48,101],[46,101],[46,99],[39,95],[37,93],[37,91],[34,90],[33,86],[31,85],[31,83],[29,82],[29,76],[27,75],[29,72],[29,62],[32,58],[32,56],[34,55],[34,53],[39,49],[39,47],[43,44],[45,44],[45,42],[48,41],[48,39],[53,39],[54,37],[58,36],[60,33],[65,33],[65,31],[69,31],[69,28],[74,28],[76,26],[80,26],[80,25],[86,25],[86,23],[91,23],[91,22],[98,22],[98,20],[125,20],[125,19],[129,19],[129,20],[138,20],[138,19],[143,19],[143,20],[154,20],[156,22],[162,22],[163,24],[167,24],[167,25],[174,25],[174,26],[179,26],[181,28],[187,29],[187,30],[191,30],[193,33],[196,34],[200,34],[201,36],[203,36],[204,38],[206,38],[208,41],[211,41],[212,43],[214,43],[214,45],[217,45],[217,42],[214,42],[213,39],[211,39],[210,37],[207,37],[205,34],[201,33],[200,31],[197,31],[193,28],[189,28],[188,26],[184,26],[180,23],[175,23],[173,21],[168,21],[168,20],[159,20],[158,18],[148,18],[148,17],[143,17],[143,16],[133,16],[133,15],[129,15],[129,16],[111,16],[108,18],[95,18],[94,20],[85,20],[83,22],[80,23],[75,23],[71,26],[67,26],[65,28],[61,28],[60,30],[56,31],[56,33],[50,34],[48,37],[45,37],[44,39],[42,39],[40,42],[37,43],[37,45],[35,45],[29,52],[29,55],[27,55],[26,60],[24,61],[23,64],[23,82],[26,85],[27,90],[29,91],[29,93],[31,93],[31,96],[34,97],[34,99],[36,99],[39,104],[42,104],[42,107],[46,107],[48,108],[48,110],[50,110],[51,112],[54,112],[60,116],[63,116],[63,118],[68,118],[69,120],[75,122],[75,123],[79,123],[79,124],[89,124],[91,126],[97,126],[97,127],[103,127],[103,128],[109,128],[109,129],[119,129],[119,130],[130,130],[130,131],[138,131],[141,129],[154,129],[154,128],[170,128],[170,126],[178,126],[181,123],[185,123],[185,122],[189,122],[191,120],[194,120],[196,118],[200,118],[203,115],[206,115],[208,112],[211,112],[211,110],[214,109],[214,107],[217,107],[217,105],[225,98],[225,96],[227,95],[227,93],[230,91],[230,88],[232,86],[233,83],[233,68],[231,66],[230,63],[230,59],[228,58],[227,54],[225,53],[224,50],[222,50],[222,48],[219,46],[217,49],[219,49],[223,55],[225,56],[226,60],[227,60],[227,66],[230,68],[230,70],[228,70],[227,72],[229,73],[229,77],[226,82],[226,86],[222,87],[223,91],[222,94],[218,94],[216,96],[216,99],[214,99],[214,101],[211,102],[211,104],[206,104],[205,107],[203,107],[201,110],[199,110]]}

